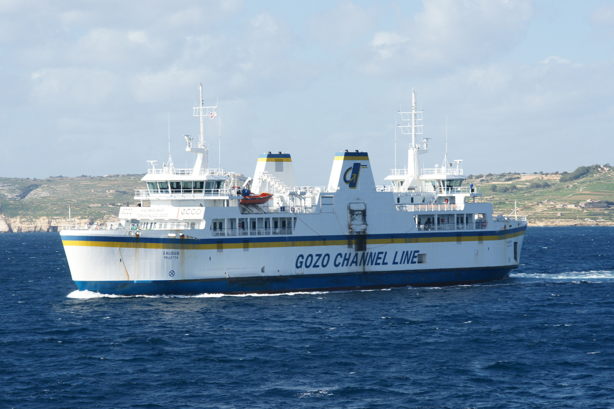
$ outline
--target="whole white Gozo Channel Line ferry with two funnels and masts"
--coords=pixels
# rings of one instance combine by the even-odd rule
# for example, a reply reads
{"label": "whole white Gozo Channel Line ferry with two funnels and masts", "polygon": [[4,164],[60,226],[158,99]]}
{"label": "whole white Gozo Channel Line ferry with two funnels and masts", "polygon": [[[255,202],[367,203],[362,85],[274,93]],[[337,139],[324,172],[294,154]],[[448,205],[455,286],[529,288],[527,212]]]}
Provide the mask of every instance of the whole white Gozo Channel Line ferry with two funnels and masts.
{"label": "whole white Gozo Channel Line ferry with two funnels and masts", "polygon": [[327,186],[299,186],[288,153],[258,156],[254,177],[208,166],[205,118],[195,166],[149,161],[119,223],[64,226],[72,279],[104,294],[244,294],[452,286],[502,280],[519,266],[526,218],[475,202],[461,161],[424,169],[422,111],[399,112],[406,169],[376,186],[367,152],[336,152]]}

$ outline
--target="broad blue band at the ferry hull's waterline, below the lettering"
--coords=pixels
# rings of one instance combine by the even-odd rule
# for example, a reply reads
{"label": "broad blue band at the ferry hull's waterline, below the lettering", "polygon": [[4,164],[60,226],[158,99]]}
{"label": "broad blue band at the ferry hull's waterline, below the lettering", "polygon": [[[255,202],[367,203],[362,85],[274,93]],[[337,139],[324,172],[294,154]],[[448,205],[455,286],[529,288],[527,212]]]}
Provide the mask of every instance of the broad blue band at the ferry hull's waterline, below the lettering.
{"label": "broad blue band at the ferry hull's waterline, below the lettering", "polygon": [[279,275],[204,280],[75,281],[80,290],[122,296],[155,294],[246,294],[292,291],[335,291],[391,287],[451,286],[502,280],[518,266],[483,269]]}

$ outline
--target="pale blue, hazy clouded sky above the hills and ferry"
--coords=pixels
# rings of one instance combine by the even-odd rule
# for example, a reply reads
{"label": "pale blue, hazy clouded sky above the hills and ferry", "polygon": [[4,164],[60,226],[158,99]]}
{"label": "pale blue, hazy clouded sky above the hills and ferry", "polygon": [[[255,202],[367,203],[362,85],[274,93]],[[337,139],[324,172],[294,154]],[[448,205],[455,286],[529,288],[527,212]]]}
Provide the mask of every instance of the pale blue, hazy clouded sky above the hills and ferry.
{"label": "pale blue, hazy clouded sky above the hills and ferry", "polygon": [[326,185],[348,149],[381,183],[411,90],[423,167],[446,121],[465,174],[614,164],[613,72],[614,1],[0,0],[0,177],[142,174],[169,136],[191,167],[198,83],[209,166],[246,175],[282,151]]}

